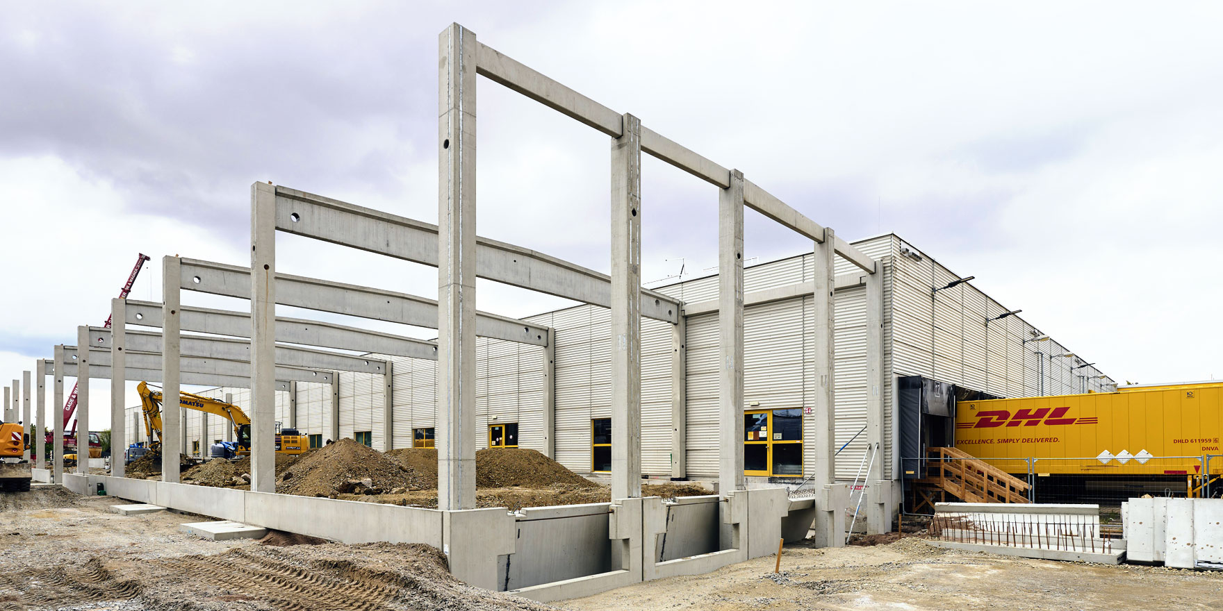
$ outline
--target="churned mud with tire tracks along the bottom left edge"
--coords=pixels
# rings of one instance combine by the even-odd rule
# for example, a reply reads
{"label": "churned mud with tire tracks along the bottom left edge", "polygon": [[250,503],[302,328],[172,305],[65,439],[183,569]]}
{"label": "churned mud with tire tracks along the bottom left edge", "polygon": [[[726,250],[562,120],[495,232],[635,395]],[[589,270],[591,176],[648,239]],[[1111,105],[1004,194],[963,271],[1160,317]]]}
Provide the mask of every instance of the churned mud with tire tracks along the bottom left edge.
{"label": "churned mud with tire tracks along the bottom left edge", "polygon": [[550,609],[464,584],[433,547],[406,544],[232,549],[218,555],[103,560],[0,573],[0,607],[56,609],[138,599],[175,611],[278,609]]}

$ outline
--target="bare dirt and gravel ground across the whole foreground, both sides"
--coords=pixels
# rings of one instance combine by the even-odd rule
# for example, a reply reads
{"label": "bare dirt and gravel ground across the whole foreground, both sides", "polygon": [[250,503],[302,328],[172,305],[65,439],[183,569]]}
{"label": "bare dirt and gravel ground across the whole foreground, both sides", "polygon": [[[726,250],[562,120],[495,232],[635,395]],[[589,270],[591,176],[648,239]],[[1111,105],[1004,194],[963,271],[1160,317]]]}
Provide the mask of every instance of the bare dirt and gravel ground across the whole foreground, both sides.
{"label": "bare dirt and gravel ground across the whole foreground, both sides", "polygon": [[[198,516],[122,517],[109,512],[116,502],[50,485],[0,495],[6,550],[0,609],[550,609],[459,583],[437,550],[421,545],[318,544],[285,533],[264,541],[209,541],[179,532],[179,524],[203,519]],[[779,574],[767,556],[555,607],[1213,610],[1223,591],[1223,573],[1049,562],[894,539],[841,549],[795,544],[786,546]]]}

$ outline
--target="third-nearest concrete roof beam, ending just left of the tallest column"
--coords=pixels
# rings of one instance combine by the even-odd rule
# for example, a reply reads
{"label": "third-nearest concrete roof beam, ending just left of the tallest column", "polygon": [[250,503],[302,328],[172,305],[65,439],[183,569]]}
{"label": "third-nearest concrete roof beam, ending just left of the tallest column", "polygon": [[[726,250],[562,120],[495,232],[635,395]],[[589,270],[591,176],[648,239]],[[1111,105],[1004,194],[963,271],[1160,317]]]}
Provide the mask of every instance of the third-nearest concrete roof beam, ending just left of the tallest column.
{"label": "third-nearest concrete roof beam, ending just left of the tallest column", "polygon": [[[179,288],[175,287],[175,290]],[[249,314],[193,307],[181,309],[181,329],[183,331],[251,337]],[[157,326],[155,323],[148,323],[148,320],[157,320],[154,316],[159,314],[159,310],[160,306],[157,303],[128,301],[127,324]],[[437,346],[429,341],[296,318],[275,318],[275,340],[323,348],[377,352],[396,357],[437,358]],[[275,345],[273,343],[273,346]]]}

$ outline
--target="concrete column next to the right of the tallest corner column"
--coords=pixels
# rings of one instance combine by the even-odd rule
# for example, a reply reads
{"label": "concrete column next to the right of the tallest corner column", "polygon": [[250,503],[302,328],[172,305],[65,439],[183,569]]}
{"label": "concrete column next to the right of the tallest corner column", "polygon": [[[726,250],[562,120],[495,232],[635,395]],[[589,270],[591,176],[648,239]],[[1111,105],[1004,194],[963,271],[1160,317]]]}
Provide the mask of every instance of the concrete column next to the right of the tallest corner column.
{"label": "concrete column next to the right of the tallest corner column", "polygon": [[612,141],[612,500],[641,496],[641,121]]}

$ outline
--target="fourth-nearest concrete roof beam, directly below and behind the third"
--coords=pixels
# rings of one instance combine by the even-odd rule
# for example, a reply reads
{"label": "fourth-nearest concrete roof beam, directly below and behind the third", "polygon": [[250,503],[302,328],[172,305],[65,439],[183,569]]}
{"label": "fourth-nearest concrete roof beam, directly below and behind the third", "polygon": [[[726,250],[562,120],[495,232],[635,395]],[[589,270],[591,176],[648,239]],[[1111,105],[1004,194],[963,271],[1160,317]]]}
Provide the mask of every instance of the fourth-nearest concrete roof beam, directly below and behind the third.
{"label": "fourth-nearest concrete roof beam, directly below and behind the third", "polygon": [[[110,330],[89,327],[92,347],[110,347]],[[127,349],[131,352],[158,353],[161,349],[161,334],[155,331],[127,331]],[[183,357],[218,358],[223,360],[251,362],[251,342],[229,337],[205,337],[199,335],[180,335],[181,354]],[[327,369],[366,374],[383,374],[386,360],[366,356],[342,354],[300,346],[276,345],[276,365],[302,369]],[[243,374],[246,375],[246,374]],[[320,381],[320,380],[311,380]]]}

